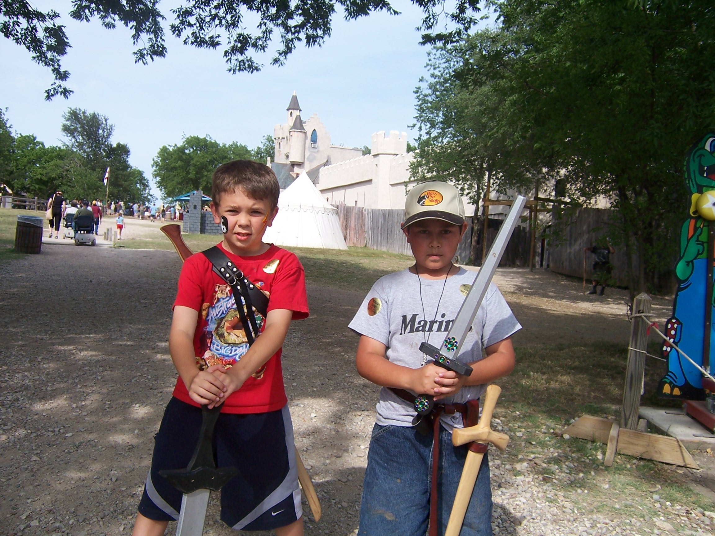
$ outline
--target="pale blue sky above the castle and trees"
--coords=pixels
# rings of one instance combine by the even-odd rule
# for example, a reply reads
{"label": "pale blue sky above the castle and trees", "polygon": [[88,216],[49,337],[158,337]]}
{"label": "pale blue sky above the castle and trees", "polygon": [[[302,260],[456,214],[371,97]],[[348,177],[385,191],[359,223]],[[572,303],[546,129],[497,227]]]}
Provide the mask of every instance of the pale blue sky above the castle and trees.
{"label": "pale blue sky above the castle and trees", "polygon": [[[35,4],[63,15],[73,46],[64,67],[74,94],[46,102],[49,71],[20,46],[0,39],[0,106],[15,131],[35,134],[45,144],[61,142],[61,116],[68,107],[97,111],[116,126],[114,142],[129,145],[132,165],[151,177],[157,149],[180,143],[184,134],[255,147],[285,121],[293,91],[302,116],[317,113],[333,144],[369,145],[378,130],[408,131],[414,139],[408,128],[415,115],[413,90],[425,74],[428,49],[415,30],[421,12],[408,1],[393,2],[403,12],[399,16],[373,14],[349,23],[336,18],[322,48],[301,47],[282,67],[270,66],[266,56],[260,73],[235,75],[227,73],[221,51],[184,46],[169,35],[168,24],[167,57],[143,66],[134,64],[129,30],[73,21],[66,16],[68,1]],[[164,1],[164,14],[178,4]]]}

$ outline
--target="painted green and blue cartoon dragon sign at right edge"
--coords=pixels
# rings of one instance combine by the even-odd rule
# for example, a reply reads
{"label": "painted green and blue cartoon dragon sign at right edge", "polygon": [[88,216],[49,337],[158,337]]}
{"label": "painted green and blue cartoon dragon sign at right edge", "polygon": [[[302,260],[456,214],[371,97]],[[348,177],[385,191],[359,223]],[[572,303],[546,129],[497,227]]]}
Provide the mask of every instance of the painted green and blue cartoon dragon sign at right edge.
{"label": "painted green and blue cartoon dragon sign at right edge", "polygon": [[[705,354],[712,362],[711,343],[715,342],[710,322],[713,297],[706,299],[708,275],[712,278],[713,272],[712,268],[708,270],[708,259],[713,259],[712,244],[709,247],[708,242],[712,242],[709,236],[715,236],[710,232],[710,226],[715,227],[715,134],[706,135],[689,151],[685,179],[690,194],[689,218],[681,228],[680,259],[676,264],[678,288],[665,334],[702,366]],[[709,337],[706,324],[710,324]],[[668,359],[668,373],[658,384],[658,396],[703,399],[701,372],[667,342],[662,352]]]}

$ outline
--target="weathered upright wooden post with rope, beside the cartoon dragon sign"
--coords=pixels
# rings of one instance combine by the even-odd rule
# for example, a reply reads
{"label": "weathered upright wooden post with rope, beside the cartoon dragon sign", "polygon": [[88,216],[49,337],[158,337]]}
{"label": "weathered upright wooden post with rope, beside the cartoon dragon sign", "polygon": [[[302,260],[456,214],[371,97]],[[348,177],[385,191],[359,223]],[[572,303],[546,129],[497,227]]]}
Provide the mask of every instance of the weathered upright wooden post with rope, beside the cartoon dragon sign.
{"label": "weathered upright wooden post with rope, beside the cartoon dragon sign", "polygon": [[[641,292],[633,299],[633,314],[649,314],[651,297]],[[623,387],[623,412],[621,426],[628,430],[638,430],[638,410],[643,394],[643,375],[646,368],[646,350],[648,349],[648,317],[631,319],[631,341],[628,343],[628,364],[626,364],[626,385]]]}

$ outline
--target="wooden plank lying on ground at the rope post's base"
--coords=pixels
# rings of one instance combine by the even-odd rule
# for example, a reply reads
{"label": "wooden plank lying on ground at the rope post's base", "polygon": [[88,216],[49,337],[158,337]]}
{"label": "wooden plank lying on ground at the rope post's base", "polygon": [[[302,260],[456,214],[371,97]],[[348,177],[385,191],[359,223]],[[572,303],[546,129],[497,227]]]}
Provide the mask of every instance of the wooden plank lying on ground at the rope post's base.
{"label": "wooden plank lying on ground at the rope post's base", "polygon": [[[583,415],[583,417],[566,427],[563,430],[563,434],[578,437],[582,440],[608,443],[613,424],[612,420]],[[618,431],[616,452],[671,465],[681,465],[691,469],[700,468],[684,445],[676,437],[667,435],[648,434],[621,428]]]}

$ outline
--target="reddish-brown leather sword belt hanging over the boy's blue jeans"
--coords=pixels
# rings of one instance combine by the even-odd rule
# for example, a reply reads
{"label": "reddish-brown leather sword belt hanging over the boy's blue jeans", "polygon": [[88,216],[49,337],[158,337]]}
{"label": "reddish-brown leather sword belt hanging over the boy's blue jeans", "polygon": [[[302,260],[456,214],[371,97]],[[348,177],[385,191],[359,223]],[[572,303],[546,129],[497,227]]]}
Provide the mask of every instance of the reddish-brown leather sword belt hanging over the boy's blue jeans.
{"label": "reddish-brown leather sword belt hanging over the boy's blue jeans", "polygon": [[[389,388],[401,399],[409,402],[410,407],[414,405],[415,395],[405,389]],[[460,412],[462,422],[465,427],[475,426],[479,422],[479,400],[468,400],[466,404],[435,404],[433,410],[423,415],[418,422],[413,425],[415,430],[422,435],[433,435],[432,442],[432,486],[430,489],[430,532],[429,536],[437,536],[437,475],[440,460],[440,416],[454,415]],[[418,416],[419,417],[419,416]],[[471,442],[467,447],[472,452],[487,452],[486,443]]]}

